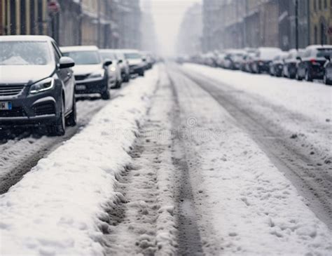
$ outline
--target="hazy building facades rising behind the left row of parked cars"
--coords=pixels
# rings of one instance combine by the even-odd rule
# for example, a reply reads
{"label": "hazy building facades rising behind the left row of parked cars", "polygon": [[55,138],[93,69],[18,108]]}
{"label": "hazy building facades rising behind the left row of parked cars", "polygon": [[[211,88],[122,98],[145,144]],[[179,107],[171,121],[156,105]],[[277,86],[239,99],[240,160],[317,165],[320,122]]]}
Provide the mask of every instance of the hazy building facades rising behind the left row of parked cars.
{"label": "hazy building facades rising behind the left row of parked cars", "polygon": [[60,46],[140,48],[140,20],[139,0],[0,0],[0,35],[45,34]]}

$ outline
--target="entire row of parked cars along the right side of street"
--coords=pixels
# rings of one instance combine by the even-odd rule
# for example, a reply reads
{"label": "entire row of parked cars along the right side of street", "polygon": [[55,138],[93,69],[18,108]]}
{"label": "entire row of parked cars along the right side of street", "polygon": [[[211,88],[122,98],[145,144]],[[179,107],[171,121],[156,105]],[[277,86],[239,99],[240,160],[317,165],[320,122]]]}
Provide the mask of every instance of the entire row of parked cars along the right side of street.
{"label": "entire row of parked cars along the right side of street", "polygon": [[332,85],[331,58],[331,45],[314,45],[287,52],[266,47],[230,49],[181,58],[180,62],[188,60],[212,67],[240,69],[253,74],[268,73],[299,81],[321,79],[327,85]]}

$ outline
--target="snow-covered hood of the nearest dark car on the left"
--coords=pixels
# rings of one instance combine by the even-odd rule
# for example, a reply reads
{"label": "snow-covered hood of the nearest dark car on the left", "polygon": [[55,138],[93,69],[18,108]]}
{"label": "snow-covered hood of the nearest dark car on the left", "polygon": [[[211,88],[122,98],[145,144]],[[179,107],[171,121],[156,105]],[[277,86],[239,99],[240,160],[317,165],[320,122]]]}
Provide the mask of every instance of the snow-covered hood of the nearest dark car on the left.
{"label": "snow-covered hood of the nearest dark car on the left", "polygon": [[53,65],[0,65],[0,84],[30,85],[51,76],[54,71]]}

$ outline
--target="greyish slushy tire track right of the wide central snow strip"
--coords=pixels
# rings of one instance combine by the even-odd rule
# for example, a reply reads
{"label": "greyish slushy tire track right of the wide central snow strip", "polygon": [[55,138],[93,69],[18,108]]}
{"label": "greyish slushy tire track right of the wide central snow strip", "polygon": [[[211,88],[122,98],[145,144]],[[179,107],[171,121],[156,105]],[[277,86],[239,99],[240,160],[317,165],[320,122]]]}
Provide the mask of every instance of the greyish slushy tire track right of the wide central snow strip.
{"label": "greyish slushy tire track right of the wide central snow strip", "polygon": [[[304,155],[303,150],[290,141],[284,130],[270,126],[268,119],[246,107],[237,99],[233,90],[229,90],[229,86],[206,76],[179,70],[180,74],[209,93],[251,134],[272,163],[285,173],[300,191],[317,217],[332,229],[332,180],[326,173],[328,166],[317,166],[316,159]],[[247,95],[247,100],[250,100],[250,95]],[[265,102],[261,103],[257,98],[255,100],[257,105],[265,105]]]}

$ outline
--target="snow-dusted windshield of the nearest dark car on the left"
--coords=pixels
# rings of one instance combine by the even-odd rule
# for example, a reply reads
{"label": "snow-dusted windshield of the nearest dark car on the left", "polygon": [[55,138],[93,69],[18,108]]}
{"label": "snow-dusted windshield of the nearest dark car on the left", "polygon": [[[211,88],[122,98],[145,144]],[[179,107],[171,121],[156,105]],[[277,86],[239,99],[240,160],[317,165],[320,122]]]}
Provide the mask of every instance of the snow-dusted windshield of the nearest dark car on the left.
{"label": "snow-dusted windshield of the nearest dark car on the left", "polygon": [[0,65],[48,65],[46,41],[0,41]]}

